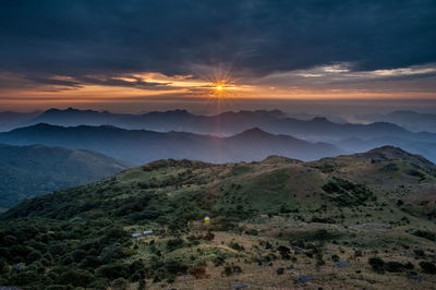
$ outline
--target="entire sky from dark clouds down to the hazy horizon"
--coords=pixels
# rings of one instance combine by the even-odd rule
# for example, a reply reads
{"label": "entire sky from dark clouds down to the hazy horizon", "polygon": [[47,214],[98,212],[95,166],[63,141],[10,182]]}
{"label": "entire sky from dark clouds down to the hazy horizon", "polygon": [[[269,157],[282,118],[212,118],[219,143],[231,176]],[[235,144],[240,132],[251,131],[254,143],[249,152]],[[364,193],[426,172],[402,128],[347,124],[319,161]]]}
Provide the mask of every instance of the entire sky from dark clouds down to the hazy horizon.
{"label": "entire sky from dark clouds down to the hazy horizon", "polygon": [[0,111],[436,110],[435,15],[434,0],[2,0]]}

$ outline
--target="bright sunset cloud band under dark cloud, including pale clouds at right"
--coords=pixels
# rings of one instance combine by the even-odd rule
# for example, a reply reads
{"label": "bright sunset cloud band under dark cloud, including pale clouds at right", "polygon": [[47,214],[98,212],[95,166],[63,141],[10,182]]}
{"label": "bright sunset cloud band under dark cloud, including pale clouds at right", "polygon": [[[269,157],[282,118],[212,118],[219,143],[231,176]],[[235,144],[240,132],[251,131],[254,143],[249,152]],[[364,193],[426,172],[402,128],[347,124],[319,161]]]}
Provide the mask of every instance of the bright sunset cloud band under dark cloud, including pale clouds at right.
{"label": "bright sunset cloud band under dark cloud, including pale clouds at right", "polygon": [[[436,65],[353,71],[352,63],[336,63],[266,76],[232,77],[206,68],[196,75],[159,72],[111,75],[22,75],[1,73],[0,104],[146,102],[171,96],[217,101],[222,98],[435,98]],[[222,100],[221,100],[222,101]]]}

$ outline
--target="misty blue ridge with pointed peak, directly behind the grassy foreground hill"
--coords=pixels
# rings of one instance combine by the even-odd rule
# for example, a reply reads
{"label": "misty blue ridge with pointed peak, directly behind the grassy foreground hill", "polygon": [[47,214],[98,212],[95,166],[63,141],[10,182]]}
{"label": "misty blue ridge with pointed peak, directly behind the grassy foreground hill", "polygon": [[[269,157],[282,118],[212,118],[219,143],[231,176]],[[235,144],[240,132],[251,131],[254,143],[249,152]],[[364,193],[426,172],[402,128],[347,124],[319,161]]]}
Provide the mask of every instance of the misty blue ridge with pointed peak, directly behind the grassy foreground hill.
{"label": "misty blue ridge with pointed peak, directly behind the grassy foreground hill", "polygon": [[184,132],[125,130],[116,126],[58,126],[37,124],[0,134],[0,142],[14,145],[44,144],[99,152],[144,164],[162,158],[211,162],[262,160],[268,155],[313,160],[343,153],[330,144],[310,143],[287,135],[247,130],[231,137]]}

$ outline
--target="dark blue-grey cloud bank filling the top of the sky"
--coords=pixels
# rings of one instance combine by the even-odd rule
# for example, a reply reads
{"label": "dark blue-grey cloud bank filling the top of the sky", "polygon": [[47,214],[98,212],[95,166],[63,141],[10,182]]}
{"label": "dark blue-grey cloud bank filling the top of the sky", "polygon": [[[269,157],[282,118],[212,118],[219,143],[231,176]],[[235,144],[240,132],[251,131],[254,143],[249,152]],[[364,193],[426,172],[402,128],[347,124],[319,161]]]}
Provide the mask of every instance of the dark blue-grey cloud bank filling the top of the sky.
{"label": "dark blue-grey cloud bank filling the top of the sky", "polygon": [[0,70],[81,82],[222,63],[240,77],[404,68],[436,62],[435,15],[434,0],[2,0]]}

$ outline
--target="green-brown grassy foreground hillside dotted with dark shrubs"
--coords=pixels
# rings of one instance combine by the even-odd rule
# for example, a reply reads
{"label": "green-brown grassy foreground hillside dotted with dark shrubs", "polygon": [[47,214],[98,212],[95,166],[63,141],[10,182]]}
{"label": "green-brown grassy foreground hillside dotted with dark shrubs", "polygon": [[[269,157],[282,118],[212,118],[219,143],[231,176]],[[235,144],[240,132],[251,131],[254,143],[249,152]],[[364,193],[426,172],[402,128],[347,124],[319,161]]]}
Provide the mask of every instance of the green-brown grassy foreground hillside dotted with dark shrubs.
{"label": "green-brown grassy foreground hillside dotted with dark shrubs", "polygon": [[435,166],[393,147],[156,161],[3,214],[0,285],[434,289],[435,190]]}

